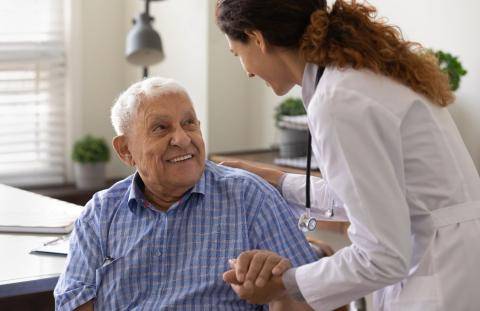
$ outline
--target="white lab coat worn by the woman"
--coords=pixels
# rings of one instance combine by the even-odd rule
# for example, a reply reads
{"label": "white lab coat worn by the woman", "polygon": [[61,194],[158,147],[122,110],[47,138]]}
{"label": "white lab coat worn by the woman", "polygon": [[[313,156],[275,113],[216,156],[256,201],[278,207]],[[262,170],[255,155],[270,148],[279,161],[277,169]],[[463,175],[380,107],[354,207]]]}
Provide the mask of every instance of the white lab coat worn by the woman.
{"label": "white lab coat worn by the woman", "polygon": [[[317,67],[303,78],[323,179],[312,212],[348,220],[352,245],[299,267],[315,310],[374,292],[376,310],[480,310],[480,179],[447,109],[380,75]],[[305,177],[282,191],[303,212]]]}

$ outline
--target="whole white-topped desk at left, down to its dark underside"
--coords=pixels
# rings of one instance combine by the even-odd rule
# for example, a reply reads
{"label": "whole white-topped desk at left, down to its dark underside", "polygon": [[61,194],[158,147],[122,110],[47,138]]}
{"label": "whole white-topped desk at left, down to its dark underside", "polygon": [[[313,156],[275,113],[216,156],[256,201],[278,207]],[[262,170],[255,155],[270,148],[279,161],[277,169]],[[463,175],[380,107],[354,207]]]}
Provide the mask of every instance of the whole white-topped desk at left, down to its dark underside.
{"label": "whole white-topped desk at left, down to its dark underside", "polygon": [[[0,223],[20,229],[29,224],[68,226],[81,207],[0,185]],[[71,218],[71,219],[70,219]],[[64,269],[65,257],[30,254],[60,234],[0,233],[0,310],[52,310],[52,291]]]}

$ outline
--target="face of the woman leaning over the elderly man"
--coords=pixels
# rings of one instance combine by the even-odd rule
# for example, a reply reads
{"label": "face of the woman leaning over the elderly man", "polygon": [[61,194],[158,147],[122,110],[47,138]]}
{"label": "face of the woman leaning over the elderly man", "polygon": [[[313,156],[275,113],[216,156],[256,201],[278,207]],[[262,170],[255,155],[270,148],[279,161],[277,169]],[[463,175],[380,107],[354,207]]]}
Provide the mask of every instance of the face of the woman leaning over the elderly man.
{"label": "face of the woman leaning over the elderly man", "polygon": [[228,35],[226,38],[230,51],[240,59],[243,70],[249,77],[260,77],[279,96],[285,95],[295,86],[295,81],[291,79],[280,57],[282,51],[279,48],[270,46],[262,49],[254,37],[250,37],[247,43],[231,39]]}

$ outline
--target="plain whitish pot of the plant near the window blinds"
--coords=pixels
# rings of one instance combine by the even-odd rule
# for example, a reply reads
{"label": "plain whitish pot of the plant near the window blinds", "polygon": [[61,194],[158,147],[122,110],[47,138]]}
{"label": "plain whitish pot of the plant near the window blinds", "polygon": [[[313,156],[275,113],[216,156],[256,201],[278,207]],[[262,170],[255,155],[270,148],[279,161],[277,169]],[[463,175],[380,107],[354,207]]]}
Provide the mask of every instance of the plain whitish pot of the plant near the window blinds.
{"label": "plain whitish pot of the plant near the window blinds", "polygon": [[105,187],[105,162],[74,163],[75,185],[79,189]]}

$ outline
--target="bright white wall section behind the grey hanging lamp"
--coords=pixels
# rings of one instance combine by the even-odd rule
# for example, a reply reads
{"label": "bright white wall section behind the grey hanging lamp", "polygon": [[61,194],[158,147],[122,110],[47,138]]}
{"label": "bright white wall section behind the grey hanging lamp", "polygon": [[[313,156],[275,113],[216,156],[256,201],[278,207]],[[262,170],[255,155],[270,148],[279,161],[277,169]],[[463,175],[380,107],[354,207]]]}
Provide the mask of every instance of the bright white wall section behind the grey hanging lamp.
{"label": "bright white wall section behind the grey hanging lamp", "polygon": [[[127,29],[131,27],[132,17],[143,11],[143,1],[127,2]],[[208,0],[151,2],[150,11],[166,57],[150,68],[149,75],[174,78],[186,87],[208,143]],[[141,68],[132,65],[127,68],[127,85],[142,78]]]}

